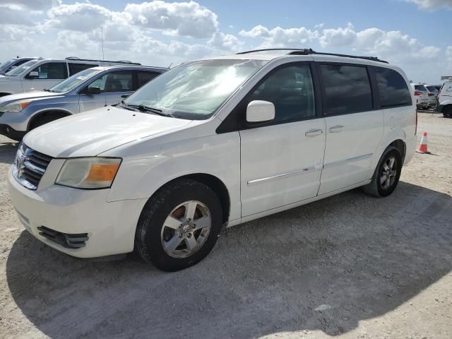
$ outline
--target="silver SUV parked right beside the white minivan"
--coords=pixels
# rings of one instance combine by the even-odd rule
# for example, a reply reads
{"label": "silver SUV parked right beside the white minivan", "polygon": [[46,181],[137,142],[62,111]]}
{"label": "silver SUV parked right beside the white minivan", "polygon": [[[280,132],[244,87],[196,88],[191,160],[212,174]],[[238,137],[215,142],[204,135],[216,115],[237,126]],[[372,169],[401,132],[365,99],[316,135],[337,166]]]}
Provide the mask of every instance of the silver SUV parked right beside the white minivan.
{"label": "silver SUV parked right beside the white minivan", "polygon": [[0,97],[0,133],[20,141],[37,126],[79,112],[114,105],[167,69],[98,66],[44,91]]}

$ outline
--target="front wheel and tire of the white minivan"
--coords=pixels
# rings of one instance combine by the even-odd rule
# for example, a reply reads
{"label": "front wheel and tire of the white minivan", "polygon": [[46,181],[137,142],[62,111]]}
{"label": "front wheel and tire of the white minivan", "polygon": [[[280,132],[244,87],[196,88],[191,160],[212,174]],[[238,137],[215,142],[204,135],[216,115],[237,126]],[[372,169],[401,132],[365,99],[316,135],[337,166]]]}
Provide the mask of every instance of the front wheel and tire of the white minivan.
{"label": "front wheel and tire of the white minivan", "polygon": [[[187,219],[187,213],[193,218]],[[198,229],[208,225],[207,216],[210,226]],[[198,222],[201,218],[204,222]],[[136,229],[135,251],[160,270],[183,270],[210,253],[221,228],[222,208],[215,192],[200,182],[179,180],[164,186],[145,204]]]}

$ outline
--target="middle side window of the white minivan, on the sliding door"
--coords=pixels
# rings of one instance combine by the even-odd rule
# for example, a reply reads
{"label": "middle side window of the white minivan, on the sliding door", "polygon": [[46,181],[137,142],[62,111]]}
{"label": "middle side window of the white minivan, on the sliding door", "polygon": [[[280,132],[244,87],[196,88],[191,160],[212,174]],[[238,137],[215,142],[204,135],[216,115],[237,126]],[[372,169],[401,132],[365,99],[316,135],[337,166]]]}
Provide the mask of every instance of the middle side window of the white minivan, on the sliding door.
{"label": "middle side window of the white minivan, on the sliding door", "polygon": [[372,109],[367,69],[362,66],[321,65],[325,88],[324,114],[349,114]]}

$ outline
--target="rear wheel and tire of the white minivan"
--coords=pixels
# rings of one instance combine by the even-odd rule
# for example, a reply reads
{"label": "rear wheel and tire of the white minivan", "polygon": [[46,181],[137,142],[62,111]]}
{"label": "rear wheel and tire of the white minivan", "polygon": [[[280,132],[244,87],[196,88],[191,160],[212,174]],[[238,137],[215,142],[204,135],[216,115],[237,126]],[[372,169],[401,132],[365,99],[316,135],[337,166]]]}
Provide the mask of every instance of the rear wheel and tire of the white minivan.
{"label": "rear wheel and tire of the white minivan", "polygon": [[[391,160],[394,160],[391,169],[388,170],[391,165]],[[378,198],[388,196],[396,189],[398,180],[400,179],[400,173],[402,172],[403,165],[402,155],[397,148],[389,146],[381,155],[378,165],[376,165],[374,175],[369,184],[362,186],[362,190]],[[386,165],[386,167],[385,167]],[[393,172],[395,171],[395,172]],[[385,180],[383,180],[385,176]]]}

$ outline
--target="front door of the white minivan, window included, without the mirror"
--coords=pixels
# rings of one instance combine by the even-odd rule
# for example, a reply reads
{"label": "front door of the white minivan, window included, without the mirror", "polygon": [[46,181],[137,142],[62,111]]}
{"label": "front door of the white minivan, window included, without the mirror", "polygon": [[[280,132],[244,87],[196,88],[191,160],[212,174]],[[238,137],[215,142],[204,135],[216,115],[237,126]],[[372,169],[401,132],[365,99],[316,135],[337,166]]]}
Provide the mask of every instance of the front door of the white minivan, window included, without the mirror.
{"label": "front door of the white minivan, window included, without the mirror", "polygon": [[253,100],[273,102],[275,119],[240,130],[242,217],[316,196],[325,149],[309,63],[278,67],[242,106]]}

